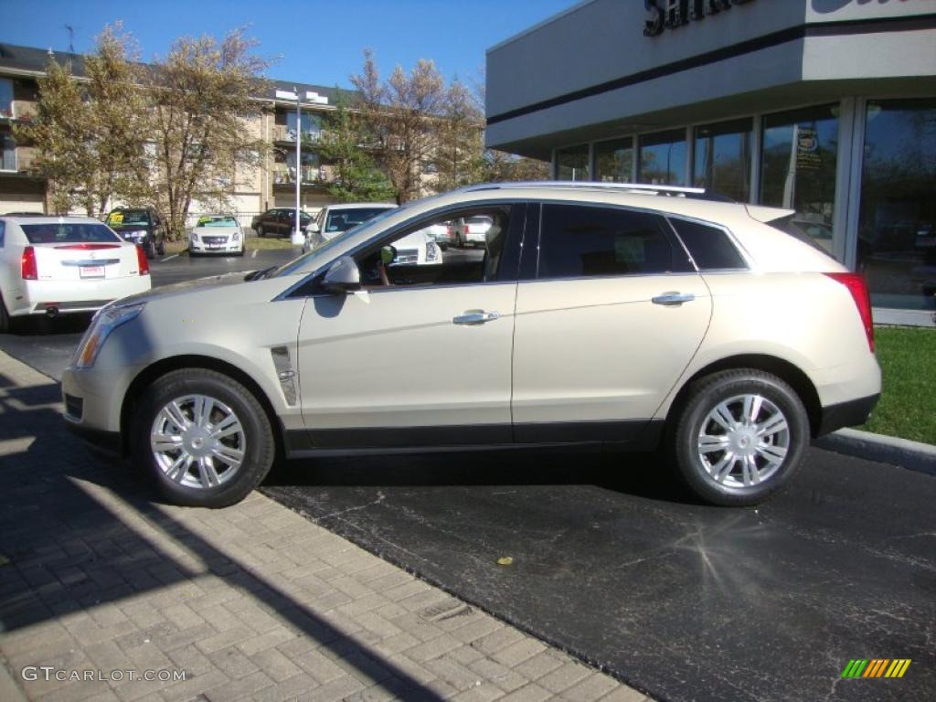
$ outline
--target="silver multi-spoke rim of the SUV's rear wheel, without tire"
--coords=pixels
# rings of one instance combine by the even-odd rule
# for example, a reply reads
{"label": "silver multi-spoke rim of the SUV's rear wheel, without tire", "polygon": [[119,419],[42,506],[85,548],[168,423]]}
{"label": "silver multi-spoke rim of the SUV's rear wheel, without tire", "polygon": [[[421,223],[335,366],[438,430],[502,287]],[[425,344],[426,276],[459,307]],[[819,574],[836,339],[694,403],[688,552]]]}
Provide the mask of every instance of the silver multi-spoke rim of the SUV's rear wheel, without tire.
{"label": "silver multi-spoke rim of the SUV's rear wheel, without tire", "polygon": [[750,488],[782,466],[790,427],[780,408],[763,395],[738,395],[709,412],[696,446],[712,480],[726,488]]}

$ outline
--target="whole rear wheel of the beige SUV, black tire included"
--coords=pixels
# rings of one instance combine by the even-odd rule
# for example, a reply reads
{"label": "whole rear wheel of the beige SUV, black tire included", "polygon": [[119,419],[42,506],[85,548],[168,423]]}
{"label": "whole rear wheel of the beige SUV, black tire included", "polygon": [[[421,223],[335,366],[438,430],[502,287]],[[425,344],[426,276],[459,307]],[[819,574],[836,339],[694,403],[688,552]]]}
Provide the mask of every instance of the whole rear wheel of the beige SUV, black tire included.
{"label": "whole rear wheel of the beige SUV, black tire included", "polygon": [[[744,396],[762,399],[759,411],[746,426],[742,422]],[[710,416],[723,402],[738,422],[735,431],[728,431]],[[785,419],[786,429],[768,432],[761,438],[753,425],[764,427],[778,414]],[[719,445],[724,443],[726,449],[709,446],[709,452],[700,451],[703,430],[705,435],[715,436]],[[810,438],[809,417],[794,389],[775,375],[746,368],[696,380],[667,445],[676,472],[696,497],[712,505],[747,506],[762,502],[797,472]],[[778,455],[782,450],[783,455]],[[745,454],[750,458],[739,458]],[[753,466],[748,461],[753,461]],[[719,469],[721,479],[712,475],[715,469]]]}

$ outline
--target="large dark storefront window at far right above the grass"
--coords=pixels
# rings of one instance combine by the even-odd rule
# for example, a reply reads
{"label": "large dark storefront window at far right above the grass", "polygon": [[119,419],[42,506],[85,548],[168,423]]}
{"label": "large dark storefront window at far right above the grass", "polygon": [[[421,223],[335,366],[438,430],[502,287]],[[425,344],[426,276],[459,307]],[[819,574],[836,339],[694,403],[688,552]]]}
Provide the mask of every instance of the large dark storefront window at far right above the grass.
{"label": "large dark storefront window at far right above the grass", "polygon": [[936,98],[868,102],[857,268],[875,307],[936,310]]}

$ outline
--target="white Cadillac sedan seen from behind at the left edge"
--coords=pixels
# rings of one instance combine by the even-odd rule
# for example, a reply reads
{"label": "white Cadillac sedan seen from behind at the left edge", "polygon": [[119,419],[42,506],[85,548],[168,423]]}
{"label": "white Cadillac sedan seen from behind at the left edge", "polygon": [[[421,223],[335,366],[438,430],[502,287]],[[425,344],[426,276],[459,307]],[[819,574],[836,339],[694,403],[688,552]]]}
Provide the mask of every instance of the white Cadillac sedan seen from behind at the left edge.
{"label": "white Cadillac sedan seen from behind at the left edge", "polygon": [[137,244],[88,217],[0,217],[0,331],[13,317],[92,312],[150,289]]}

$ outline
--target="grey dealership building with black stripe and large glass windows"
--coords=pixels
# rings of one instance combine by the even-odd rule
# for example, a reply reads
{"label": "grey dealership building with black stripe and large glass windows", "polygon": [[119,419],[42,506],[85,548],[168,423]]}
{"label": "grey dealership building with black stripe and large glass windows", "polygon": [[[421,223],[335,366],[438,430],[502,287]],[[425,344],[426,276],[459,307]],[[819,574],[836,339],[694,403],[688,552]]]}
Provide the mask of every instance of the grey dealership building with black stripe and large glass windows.
{"label": "grey dealership building with black stripe and large glass windows", "polygon": [[587,0],[488,50],[487,144],[797,212],[875,320],[936,316],[934,0]]}

